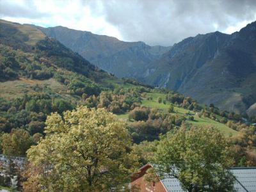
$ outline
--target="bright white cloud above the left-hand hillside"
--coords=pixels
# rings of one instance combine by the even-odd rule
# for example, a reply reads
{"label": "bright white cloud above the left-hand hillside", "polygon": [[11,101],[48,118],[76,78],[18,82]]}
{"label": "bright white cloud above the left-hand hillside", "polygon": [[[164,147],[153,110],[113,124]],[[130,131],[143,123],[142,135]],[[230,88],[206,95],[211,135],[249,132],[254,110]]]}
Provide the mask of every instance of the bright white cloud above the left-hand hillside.
{"label": "bright white cloud above the left-hand hillside", "polygon": [[[19,6],[17,6],[17,4]],[[83,3],[83,1],[31,1],[28,4],[26,0],[19,1],[0,1],[0,17],[4,20],[19,22],[21,24],[35,24],[43,27],[65,26],[71,29],[82,31],[92,31],[100,35],[115,36],[122,39],[118,29],[109,24],[102,14],[102,4],[100,1]],[[27,7],[26,7],[27,6]],[[29,9],[32,6],[33,9]],[[93,13],[93,6],[97,6],[97,14]],[[4,8],[11,12],[4,11]],[[5,10],[6,10],[5,9]],[[2,11],[3,10],[3,11]],[[16,12],[13,14],[13,12]],[[33,18],[37,13],[39,18]],[[31,17],[32,16],[32,17]]]}

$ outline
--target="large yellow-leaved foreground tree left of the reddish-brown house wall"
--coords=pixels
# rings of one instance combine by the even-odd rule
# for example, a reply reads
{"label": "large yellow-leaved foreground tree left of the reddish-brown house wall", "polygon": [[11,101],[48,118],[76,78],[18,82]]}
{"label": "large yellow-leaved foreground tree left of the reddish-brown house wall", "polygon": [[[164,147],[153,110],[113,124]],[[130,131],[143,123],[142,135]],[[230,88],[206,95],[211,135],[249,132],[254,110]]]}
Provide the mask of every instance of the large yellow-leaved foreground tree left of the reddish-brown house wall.
{"label": "large yellow-leaved foreground tree left of the reddish-brown house wall", "polygon": [[[45,139],[28,150],[25,188],[45,191],[108,191],[129,182],[137,156],[124,122],[106,109],[79,107],[48,116]],[[41,170],[35,172],[33,170]]]}

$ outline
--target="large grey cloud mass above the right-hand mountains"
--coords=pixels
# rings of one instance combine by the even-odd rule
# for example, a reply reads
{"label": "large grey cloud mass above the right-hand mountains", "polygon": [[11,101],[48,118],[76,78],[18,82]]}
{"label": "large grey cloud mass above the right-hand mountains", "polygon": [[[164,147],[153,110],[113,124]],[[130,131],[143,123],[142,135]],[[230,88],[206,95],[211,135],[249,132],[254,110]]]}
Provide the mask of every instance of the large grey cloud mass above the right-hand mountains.
{"label": "large grey cloud mass above the right-hand mountains", "polygon": [[125,40],[172,45],[198,33],[255,19],[254,0],[102,1],[108,22]]}

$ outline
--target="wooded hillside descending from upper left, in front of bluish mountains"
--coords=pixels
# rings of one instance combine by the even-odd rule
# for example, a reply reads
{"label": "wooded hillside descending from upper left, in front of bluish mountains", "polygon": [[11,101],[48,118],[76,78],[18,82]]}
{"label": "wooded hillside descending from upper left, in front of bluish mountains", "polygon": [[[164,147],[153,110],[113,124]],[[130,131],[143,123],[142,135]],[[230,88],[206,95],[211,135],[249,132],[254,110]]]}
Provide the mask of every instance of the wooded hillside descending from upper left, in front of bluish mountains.
{"label": "wooded hillside descending from upper left, in front of bluish mountains", "polygon": [[[147,119],[142,115],[141,120],[148,120],[147,124],[134,122],[129,127],[131,133],[136,133],[135,138],[139,133],[142,140],[157,139],[158,134],[185,120],[189,124],[218,127],[225,134],[237,134],[225,122],[227,116],[230,120],[239,120],[240,116],[221,113],[218,108],[203,108],[179,93],[109,76],[31,26],[0,20],[0,48],[0,131],[11,132],[19,127],[31,135],[42,134],[47,115],[85,105],[127,117],[136,110],[144,111]],[[163,103],[159,103],[161,98]],[[168,112],[171,105],[173,114]],[[196,116],[201,110],[204,118]],[[148,114],[150,111],[152,115]],[[191,115],[195,115],[195,122]],[[149,127],[141,129],[140,124]]]}

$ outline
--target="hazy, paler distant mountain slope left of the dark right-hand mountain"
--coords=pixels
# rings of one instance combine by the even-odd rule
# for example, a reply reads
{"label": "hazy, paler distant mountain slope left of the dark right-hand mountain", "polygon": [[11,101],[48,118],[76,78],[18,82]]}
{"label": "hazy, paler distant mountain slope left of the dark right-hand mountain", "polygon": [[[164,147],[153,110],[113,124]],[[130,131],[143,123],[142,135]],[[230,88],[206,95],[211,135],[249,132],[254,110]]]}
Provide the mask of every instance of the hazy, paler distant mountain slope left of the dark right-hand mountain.
{"label": "hazy, paler distant mountain slope left of the dark right-hand mountain", "polygon": [[95,35],[88,31],[77,31],[62,26],[34,27],[117,77],[140,76],[147,70],[148,63],[157,60],[170,49],[162,46],[150,47],[143,42],[122,42],[111,36]]}

